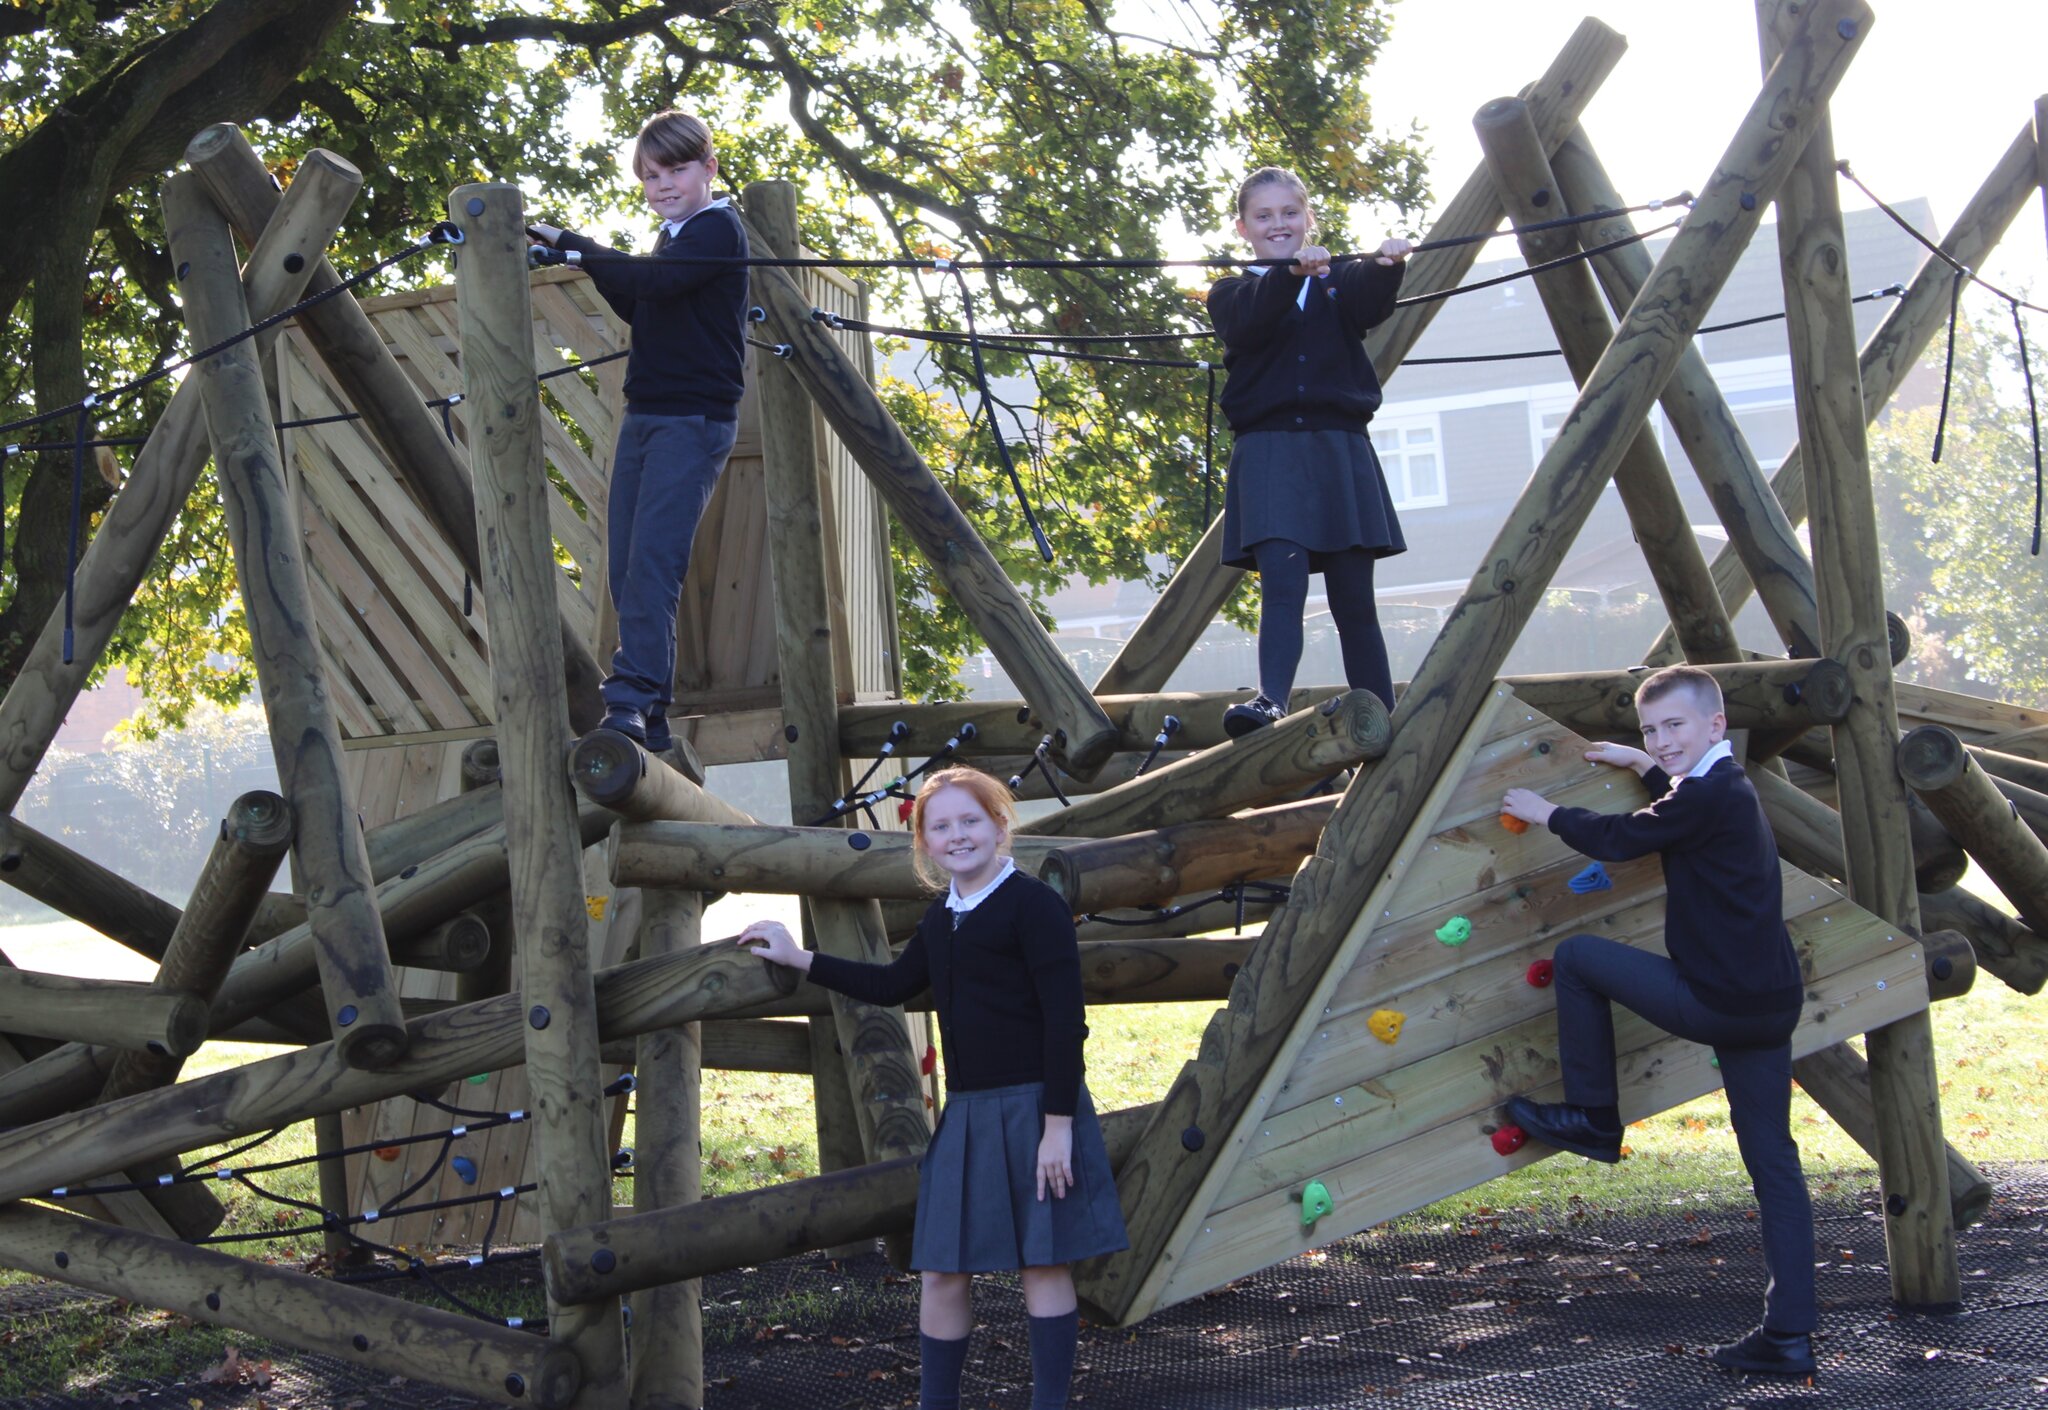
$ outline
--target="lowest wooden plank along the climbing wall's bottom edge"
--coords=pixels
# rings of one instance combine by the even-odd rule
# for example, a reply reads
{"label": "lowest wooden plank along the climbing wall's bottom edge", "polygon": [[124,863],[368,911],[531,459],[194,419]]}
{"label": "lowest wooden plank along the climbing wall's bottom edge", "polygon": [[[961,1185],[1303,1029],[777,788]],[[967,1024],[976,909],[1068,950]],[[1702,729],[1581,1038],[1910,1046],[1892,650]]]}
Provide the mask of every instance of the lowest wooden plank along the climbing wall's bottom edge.
{"label": "lowest wooden plank along the climbing wall's bottom edge", "polygon": [[[1878,984],[1884,988],[1878,988]],[[1845,1033],[1882,1027],[1927,1004],[1927,986],[1917,945],[1886,951],[1878,959],[1829,976],[1817,986],[1817,1000],[1794,1033],[1794,1055],[1841,1041]],[[1825,1021],[1815,1021],[1825,1012]],[[1620,1033],[1620,1025],[1618,1033]],[[1548,1051],[1518,1053],[1493,1084],[1503,1098],[1530,1092],[1556,1098],[1554,1039]],[[1657,1037],[1620,1062],[1622,1119],[1640,1121],[1720,1086],[1708,1066],[1710,1051],[1698,1043]],[[1548,1070],[1548,1076],[1544,1072]],[[1411,1139],[1358,1160],[1348,1160],[1313,1176],[1329,1189],[1335,1209],[1311,1234],[1300,1230],[1300,1207],[1290,1191],[1276,1191],[1212,1213],[1198,1226],[1196,1240],[1171,1264],[1157,1305],[1186,1301],[1235,1277],[1264,1269],[1307,1248],[1346,1238],[1395,1215],[1470,1189],[1548,1154],[1528,1146],[1516,1156],[1493,1154],[1487,1133],[1495,1125],[1491,1105],[1415,1131]]]}

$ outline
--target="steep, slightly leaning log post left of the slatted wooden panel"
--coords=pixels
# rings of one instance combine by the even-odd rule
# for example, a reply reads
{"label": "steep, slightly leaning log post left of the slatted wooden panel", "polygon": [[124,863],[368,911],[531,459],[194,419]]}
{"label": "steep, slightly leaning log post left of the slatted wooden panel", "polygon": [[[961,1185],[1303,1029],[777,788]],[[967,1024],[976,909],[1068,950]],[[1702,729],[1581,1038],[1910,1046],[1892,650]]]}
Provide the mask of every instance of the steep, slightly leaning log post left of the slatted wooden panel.
{"label": "steep, slightly leaning log post left of the slatted wooden panel", "polygon": [[[233,238],[190,172],[164,182],[164,225],[193,342],[213,346],[248,328]],[[299,514],[254,340],[217,352],[193,377],[207,406],[270,752],[293,810],[293,875],[307,896],[328,1019],[350,1062],[381,1068],[403,1051],[406,1017],[371,894],[362,824],[342,773],[342,734],[313,627]]]}

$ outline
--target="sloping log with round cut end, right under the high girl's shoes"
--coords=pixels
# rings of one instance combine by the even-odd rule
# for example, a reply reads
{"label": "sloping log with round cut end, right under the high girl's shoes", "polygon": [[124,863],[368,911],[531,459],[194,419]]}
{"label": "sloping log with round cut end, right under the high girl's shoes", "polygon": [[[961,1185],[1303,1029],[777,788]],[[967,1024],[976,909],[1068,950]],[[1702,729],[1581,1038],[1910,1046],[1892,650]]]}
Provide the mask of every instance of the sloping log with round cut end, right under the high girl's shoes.
{"label": "sloping log with round cut end, right under the high girl's shoes", "polygon": [[1120,836],[1276,803],[1386,750],[1386,707],[1348,691],[1231,744],[1026,822],[1020,836]]}

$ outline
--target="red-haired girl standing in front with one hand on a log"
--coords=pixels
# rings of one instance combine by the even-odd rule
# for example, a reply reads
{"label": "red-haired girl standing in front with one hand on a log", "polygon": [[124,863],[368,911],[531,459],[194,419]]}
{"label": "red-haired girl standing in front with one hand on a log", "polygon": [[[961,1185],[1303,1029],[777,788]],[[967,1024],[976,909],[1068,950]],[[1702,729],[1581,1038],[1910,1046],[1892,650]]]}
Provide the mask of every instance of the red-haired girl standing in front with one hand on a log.
{"label": "red-haired girl standing in front with one hand on a log", "polygon": [[741,945],[813,984],[895,1006],[926,988],[946,1045],[946,1109],[918,1168],[911,1264],[924,1273],[922,1410],[956,1410],[973,1275],[1018,1269],[1032,1410],[1067,1404],[1079,1336],[1071,1264],[1128,1246],[1116,1178],[1081,1080],[1081,951],[1059,894],[1010,859],[1008,791],[944,769],[918,791],[918,873],[946,896],[889,965],[803,949],[774,920]]}

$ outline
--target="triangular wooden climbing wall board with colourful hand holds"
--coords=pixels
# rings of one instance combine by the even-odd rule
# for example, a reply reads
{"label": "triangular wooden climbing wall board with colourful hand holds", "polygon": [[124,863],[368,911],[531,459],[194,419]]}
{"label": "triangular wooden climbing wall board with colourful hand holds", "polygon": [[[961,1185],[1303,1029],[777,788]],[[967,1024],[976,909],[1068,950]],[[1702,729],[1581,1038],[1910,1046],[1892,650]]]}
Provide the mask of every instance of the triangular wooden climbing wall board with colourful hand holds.
{"label": "triangular wooden climbing wall board with colourful hand holds", "polygon": [[[1663,949],[1663,873],[1655,859],[1608,865],[1608,889],[1571,879],[1587,861],[1548,830],[1499,826],[1499,795],[1520,783],[1552,801],[1628,812],[1649,793],[1626,771],[1589,766],[1585,742],[1511,697],[1475,725],[1485,738],[1440,785],[1407,861],[1382,885],[1337,957],[1270,1082],[1233,1133],[1223,1178],[1202,1191],[1159,1277],[1171,1305],[1280,1258],[1419,1209],[1528,1160],[1489,1142],[1516,1092],[1561,1096],[1554,996],[1528,982],[1573,932]],[[1546,746],[1546,748],[1544,748]],[[1786,924],[1806,976],[1794,1053],[1925,1008],[1919,945],[1794,867],[1782,869]],[[1438,939],[1454,916],[1456,945]],[[1456,937],[1458,930],[1446,930]],[[1395,1043],[1368,1027],[1401,1014]],[[1616,1010],[1628,1121],[1714,1090],[1710,1051]],[[1313,1230],[1296,1203],[1321,1180],[1335,1207]]]}

